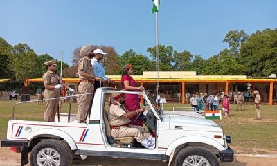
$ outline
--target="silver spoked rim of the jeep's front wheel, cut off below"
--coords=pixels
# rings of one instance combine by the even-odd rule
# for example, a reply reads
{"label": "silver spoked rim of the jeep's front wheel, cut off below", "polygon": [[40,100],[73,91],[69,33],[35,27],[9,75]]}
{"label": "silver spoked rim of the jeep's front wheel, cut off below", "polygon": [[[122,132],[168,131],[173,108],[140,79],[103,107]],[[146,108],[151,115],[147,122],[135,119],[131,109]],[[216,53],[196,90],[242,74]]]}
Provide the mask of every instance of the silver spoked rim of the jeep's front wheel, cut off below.
{"label": "silver spoked rim of the jeep's front wheel, cut off below", "polygon": [[203,156],[193,155],[188,156],[182,166],[211,166],[206,158]]}

